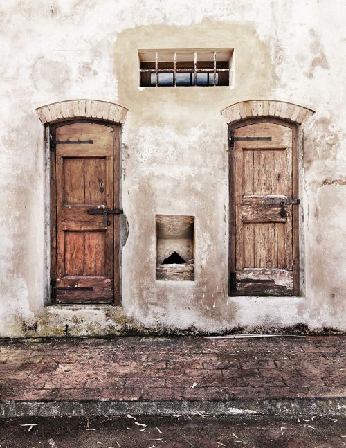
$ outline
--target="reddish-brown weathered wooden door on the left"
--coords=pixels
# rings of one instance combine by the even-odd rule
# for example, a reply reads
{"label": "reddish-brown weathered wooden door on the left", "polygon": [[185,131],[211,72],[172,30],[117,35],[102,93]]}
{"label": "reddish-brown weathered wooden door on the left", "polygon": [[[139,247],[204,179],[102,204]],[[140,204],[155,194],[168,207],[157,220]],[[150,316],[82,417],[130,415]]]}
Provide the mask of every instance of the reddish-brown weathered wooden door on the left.
{"label": "reddish-brown weathered wooden door on the left", "polygon": [[69,123],[55,127],[52,136],[55,301],[118,303],[119,129],[100,123]]}

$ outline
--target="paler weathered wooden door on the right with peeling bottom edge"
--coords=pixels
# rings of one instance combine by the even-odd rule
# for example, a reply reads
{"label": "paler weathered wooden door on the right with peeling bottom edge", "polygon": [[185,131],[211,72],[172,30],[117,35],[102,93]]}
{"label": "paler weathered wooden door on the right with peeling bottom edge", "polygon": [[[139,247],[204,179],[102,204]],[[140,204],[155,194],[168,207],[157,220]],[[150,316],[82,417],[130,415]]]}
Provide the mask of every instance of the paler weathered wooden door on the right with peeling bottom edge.
{"label": "paler weathered wooden door on the right with peeling bottom edge", "polygon": [[230,293],[297,294],[296,129],[251,120],[230,130]]}

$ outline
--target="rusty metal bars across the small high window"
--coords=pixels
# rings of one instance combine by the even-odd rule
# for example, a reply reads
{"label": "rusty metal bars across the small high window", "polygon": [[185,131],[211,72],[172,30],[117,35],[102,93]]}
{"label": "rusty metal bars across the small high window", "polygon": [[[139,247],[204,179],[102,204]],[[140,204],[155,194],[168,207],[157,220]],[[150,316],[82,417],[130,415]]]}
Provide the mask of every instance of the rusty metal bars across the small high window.
{"label": "rusty metal bars across the small high window", "polygon": [[[214,51],[213,56],[213,69],[197,69],[197,52],[194,52],[194,68],[193,69],[177,69],[176,68],[177,57],[176,51],[174,52],[174,69],[159,69],[158,68],[158,52],[155,53],[155,69],[140,69],[140,73],[155,73],[155,87],[158,87],[158,73],[174,73],[174,87],[176,87],[176,73],[190,73],[190,84],[193,86],[197,86],[197,73],[207,73],[208,81],[207,85],[209,85],[209,76],[213,74],[213,87],[217,85],[217,73],[220,71],[228,71],[230,73],[230,84],[232,83],[231,75],[233,75],[232,69],[217,69],[217,52]],[[192,76],[193,74],[193,76]],[[193,78],[193,82],[192,82]]]}

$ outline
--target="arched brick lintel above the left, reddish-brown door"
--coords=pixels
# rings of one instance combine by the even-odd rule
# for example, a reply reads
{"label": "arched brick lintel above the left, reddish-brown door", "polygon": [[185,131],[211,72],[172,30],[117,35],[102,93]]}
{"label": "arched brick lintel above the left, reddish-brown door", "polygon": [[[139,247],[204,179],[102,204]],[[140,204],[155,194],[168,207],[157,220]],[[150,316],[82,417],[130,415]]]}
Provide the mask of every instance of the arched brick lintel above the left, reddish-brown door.
{"label": "arched brick lintel above the left, reddish-brown door", "polygon": [[44,124],[57,123],[70,118],[94,118],[122,124],[127,115],[126,107],[117,105],[115,102],[98,100],[53,102],[50,105],[37,107],[36,111]]}

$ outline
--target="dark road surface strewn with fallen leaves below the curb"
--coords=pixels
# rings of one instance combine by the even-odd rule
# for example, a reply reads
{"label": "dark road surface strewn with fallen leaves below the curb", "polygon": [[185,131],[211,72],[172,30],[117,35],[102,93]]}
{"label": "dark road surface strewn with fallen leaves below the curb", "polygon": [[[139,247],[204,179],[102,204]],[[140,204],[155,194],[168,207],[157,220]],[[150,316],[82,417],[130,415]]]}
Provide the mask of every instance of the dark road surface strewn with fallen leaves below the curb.
{"label": "dark road surface strewn with fallen leaves below the curb", "polygon": [[[133,416],[131,416],[133,417]],[[134,420],[136,418],[136,420]],[[346,418],[199,415],[0,419],[7,448],[343,448]],[[138,423],[138,424],[136,424]],[[33,426],[31,426],[33,425]],[[30,432],[29,432],[30,429]]]}

